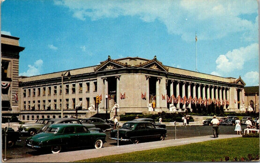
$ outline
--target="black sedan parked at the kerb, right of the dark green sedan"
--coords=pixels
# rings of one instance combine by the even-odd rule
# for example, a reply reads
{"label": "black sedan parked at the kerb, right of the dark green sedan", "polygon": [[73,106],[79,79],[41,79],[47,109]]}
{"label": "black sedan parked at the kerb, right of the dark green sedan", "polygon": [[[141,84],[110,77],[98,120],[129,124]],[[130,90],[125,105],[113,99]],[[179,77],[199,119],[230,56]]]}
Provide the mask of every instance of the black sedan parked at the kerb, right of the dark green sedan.
{"label": "black sedan parked at the kerb, right of the dark green sedan", "polygon": [[[120,142],[138,143],[139,141],[164,140],[167,130],[156,128],[153,123],[147,121],[128,121],[119,129]],[[118,140],[118,130],[111,130],[110,139]]]}

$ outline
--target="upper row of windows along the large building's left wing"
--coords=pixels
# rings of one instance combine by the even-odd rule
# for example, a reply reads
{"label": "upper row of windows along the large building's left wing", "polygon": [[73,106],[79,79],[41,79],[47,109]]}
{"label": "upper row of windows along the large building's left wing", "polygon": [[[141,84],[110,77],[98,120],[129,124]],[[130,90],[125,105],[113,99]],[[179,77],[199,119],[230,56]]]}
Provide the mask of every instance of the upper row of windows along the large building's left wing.
{"label": "upper row of windows along the large building's left wing", "polygon": [[[70,87],[71,85],[71,87]],[[69,94],[70,90],[72,94],[76,93],[76,90],[78,90],[78,93],[83,92],[83,88],[85,88],[85,92],[90,92],[90,82],[85,82],[85,85],[80,83],[72,83],[72,84],[65,84],[64,85],[64,93]],[[35,96],[51,96],[51,95],[57,95],[57,94],[62,94],[62,86],[59,85],[53,85],[53,86],[46,86],[46,87],[38,87],[38,88],[28,88],[28,89],[23,89],[23,98],[26,97],[35,97]],[[97,81],[93,82],[93,92],[96,92],[98,90],[97,87]]]}

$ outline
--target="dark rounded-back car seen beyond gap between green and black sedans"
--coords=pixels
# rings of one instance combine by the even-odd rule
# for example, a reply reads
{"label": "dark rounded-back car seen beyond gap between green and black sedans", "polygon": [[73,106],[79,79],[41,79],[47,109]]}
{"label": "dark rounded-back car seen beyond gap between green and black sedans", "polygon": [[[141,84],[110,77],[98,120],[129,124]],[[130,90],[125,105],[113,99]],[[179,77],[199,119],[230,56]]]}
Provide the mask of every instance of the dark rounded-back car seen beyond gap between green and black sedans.
{"label": "dark rounded-back car seen beyond gap between green and black sedans", "polygon": [[110,125],[101,118],[96,118],[96,117],[83,118],[81,120],[81,123],[94,124],[96,128],[100,128],[103,132],[106,131],[107,129],[110,129]]}

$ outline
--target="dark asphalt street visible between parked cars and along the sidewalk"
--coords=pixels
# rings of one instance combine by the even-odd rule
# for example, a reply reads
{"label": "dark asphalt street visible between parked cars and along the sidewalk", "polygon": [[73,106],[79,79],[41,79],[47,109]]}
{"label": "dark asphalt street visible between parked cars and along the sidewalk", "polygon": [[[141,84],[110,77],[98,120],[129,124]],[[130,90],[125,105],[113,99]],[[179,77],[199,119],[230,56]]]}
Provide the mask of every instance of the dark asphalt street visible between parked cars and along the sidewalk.
{"label": "dark asphalt street visible between parked cars and along the sidewalk", "polygon": [[[241,127],[243,131],[245,126],[241,126]],[[167,126],[166,129],[167,129],[168,136],[165,139],[180,139],[180,138],[187,138],[187,137],[206,136],[211,134],[213,135],[212,126],[176,126],[176,130],[175,130],[175,126]],[[234,126],[220,126],[220,134],[236,134],[236,131],[234,131],[234,129],[235,129]],[[106,133],[107,135],[106,136],[107,142],[104,143],[103,147],[117,146],[115,140],[109,139],[110,136],[109,131],[106,131],[104,133]],[[176,137],[175,137],[175,133],[176,133]],[[47,153],[38,152],[36,150],[32,150],[30,148],[24,147],[23,143],[25,142],[26,138],[27,136],[22,136],[21,143],[17,143],[15,147],[8,148],[6,150],[7,159],[24,158],[24,157],[30,157],[35,155],[47,154]],[[71,149],[71,150],[77,150],[77,149]],[[4,152],[4,148],[2,148],[2,158],[4,157],[5,157],[5,152]]]}

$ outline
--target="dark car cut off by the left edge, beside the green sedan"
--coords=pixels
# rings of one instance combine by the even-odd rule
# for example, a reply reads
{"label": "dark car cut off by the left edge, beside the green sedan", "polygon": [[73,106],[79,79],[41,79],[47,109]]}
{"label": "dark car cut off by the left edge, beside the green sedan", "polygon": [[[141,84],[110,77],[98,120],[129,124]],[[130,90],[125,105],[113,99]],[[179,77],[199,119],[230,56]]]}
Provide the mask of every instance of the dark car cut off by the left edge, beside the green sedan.
{"label": "dark car cut off by the left edge, beside the green sedan", "polygon": [[21,142],[19,132],[12,128],[2,128],[2,147],[5,147],[5,130],[7,129],[6,135],[6,147],[14,147],[17,142]]}

